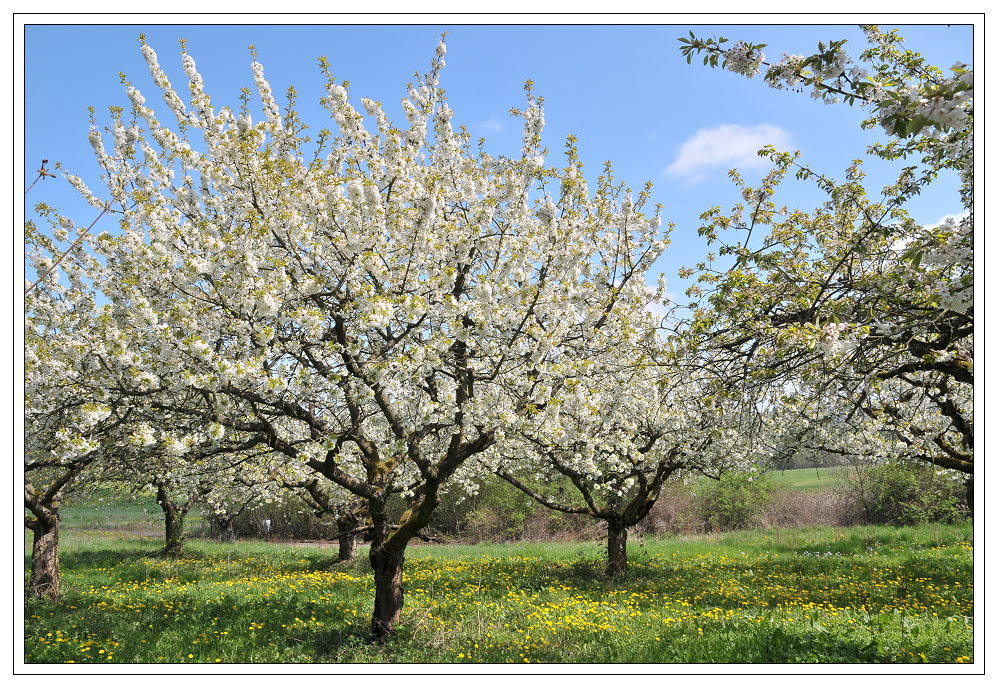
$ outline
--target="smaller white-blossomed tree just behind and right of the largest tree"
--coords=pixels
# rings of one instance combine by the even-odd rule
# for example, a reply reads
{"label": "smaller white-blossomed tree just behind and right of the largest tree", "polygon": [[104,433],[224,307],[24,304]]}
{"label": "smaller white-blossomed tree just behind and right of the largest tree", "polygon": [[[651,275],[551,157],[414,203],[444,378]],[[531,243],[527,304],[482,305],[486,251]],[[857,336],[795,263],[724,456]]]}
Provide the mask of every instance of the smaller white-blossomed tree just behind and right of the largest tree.
{"label": "smaller white-blossomed tree just behind and right of the largest tree", "polygon": [[630,336],[590,356],[585,378],[524,423],[516,441],[484,457],[538,503],[603,521],[611,576],[627,572],[628,530],[670,477],[719,477],[756,458],[756,404],[726,379],[699,374],[702,362],[689,352],[683,360],[650,313],[634,322]]}

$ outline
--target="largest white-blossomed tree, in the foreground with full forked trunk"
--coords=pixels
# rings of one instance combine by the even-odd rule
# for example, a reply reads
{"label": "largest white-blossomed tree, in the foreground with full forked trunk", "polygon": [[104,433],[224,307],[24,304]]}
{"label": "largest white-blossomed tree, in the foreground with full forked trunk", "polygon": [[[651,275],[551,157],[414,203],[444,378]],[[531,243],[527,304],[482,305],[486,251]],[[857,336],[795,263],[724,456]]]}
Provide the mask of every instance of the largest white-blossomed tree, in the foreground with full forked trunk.
{"label": "largest white-blossomed tree, in the foreground with full forked trunk", "polygon": [[248,94],[216,109],[186,51],[185,101],[142,50],[176,125],[129,85],[111,145],[91,132],[121,224],[96,240],[94,280],[127,372],[155,408],[258,438],[363,501],[383,639],[442,490],[585,375],[563,347],[613,345],[659,220],[609,171],[591,193],[571,142],[564,167],[547,162],[529,85],[520,156],[476,151],[439,86],[443,42],[401,125],[368,99],[365,118],[322,60],[334,126],[314,141],[259,63],[254,120]]}

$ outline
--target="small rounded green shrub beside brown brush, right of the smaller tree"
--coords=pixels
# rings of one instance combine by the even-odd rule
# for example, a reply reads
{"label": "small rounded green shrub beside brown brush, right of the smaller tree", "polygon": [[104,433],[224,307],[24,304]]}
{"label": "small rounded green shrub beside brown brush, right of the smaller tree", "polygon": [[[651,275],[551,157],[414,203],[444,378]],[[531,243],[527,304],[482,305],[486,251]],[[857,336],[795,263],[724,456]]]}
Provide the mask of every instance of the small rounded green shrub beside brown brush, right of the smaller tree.
{"label": "small rounded green shrub beside brown brush, right of the smaller tree", "polygon": [[692,506],[711,530],[748,528],[772,491],[772,483],[763,474],[729,472],[697,489]]}

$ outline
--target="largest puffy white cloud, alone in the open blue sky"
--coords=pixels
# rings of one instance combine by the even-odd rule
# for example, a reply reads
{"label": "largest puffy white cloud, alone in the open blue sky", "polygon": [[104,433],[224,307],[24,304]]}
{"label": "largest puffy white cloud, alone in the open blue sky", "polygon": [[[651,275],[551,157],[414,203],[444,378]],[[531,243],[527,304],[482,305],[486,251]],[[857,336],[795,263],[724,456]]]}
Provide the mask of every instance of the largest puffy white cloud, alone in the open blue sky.
{"label": "largest puffy white cloud, alone in the open blue sky", "polygon": [[683,142],[679,155],[664,170],[664,174],[685,176],[690,182],[703,178],[702,170],[766,167],[769,161],[758,152],[764,146],[778,149],[790,147],[790,133],[772,124],[745,127],[722,124],[713,129],[700,129]]}

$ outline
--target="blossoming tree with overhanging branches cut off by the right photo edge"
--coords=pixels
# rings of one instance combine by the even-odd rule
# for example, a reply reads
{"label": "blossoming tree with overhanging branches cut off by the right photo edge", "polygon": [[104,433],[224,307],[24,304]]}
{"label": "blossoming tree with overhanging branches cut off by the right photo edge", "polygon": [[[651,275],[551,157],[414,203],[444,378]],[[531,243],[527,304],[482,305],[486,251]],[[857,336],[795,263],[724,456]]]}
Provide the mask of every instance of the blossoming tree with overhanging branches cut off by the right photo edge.
{"label": "blossoming tree with overhanging branches cut off by the right photo edge", "polygon": [[[776,166],[756,188],[734,174],[744,203],[707,211],[700,230],[733,266],[689,271],[698,274],[694,293],[707,290],[710,306],[693,329],[705,346],[745,361],[758,380],[797,380],[796,389],[809,390],[797,399],[801,418],[822,399],[848,400],[865,417],[862,427],[872,423],[873,435],[886,440],[881,454],[968,474],[972,503],[973,69],[956,64],[947,76],[903,49],[896,31],[864,30],[870,47],[858,62],[844,41],[769,64],[765,45],[681,39],[688,60],[703,55],[705,64],[748,77],[765,67],[774,88],[810,88],[829,103],[866,106],[863,126],[893,137],[869,153],[914,160],[875,195],[858,162],[836,181],[796,155],[768,150]],[[777,205],[791,171],[817,184],[827,202],[811,212]],[[962,212],[920,225],[907,202],[946,173],[961,180]]]}

